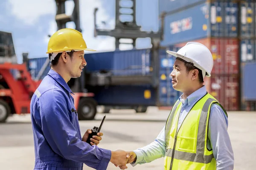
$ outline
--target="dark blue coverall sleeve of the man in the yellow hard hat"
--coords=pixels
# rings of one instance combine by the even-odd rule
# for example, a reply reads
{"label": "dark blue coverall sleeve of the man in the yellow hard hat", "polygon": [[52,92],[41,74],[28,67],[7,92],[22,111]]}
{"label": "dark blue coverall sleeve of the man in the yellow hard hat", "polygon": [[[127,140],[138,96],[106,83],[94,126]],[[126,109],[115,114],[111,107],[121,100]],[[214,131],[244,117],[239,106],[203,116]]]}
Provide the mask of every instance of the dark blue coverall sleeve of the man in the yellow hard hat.
{"label": "dark blue coverall sleeve of the man in the yellow hard hat", "polygon": [[65,159],[82,162],[97,170],[105,170],[111,159],[111,151],[81,141],[76,128],[70,122],[65,93],[52,89],[41,95],[37,102],[41,115],[42,131],[55,153]]}

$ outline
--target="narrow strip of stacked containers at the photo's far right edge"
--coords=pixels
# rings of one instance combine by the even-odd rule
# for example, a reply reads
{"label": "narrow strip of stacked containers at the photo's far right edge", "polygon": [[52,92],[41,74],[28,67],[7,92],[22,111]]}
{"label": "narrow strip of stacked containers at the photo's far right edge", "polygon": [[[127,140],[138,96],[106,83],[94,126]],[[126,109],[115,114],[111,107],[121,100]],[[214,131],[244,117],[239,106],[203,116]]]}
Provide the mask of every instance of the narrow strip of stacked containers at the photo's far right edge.
{"label": "narrow strip of stacked containers at the photo's far right edge", "polygon": [[[253,84],[253,82],[247,75],[245,75],[244,68],[249,64],[248,68],[251,69],[252,67],[250,63],[256,61],[256,2],[255,0],[242,0],[240,8],[241,109],[246,111],[256,111],[256,100],[249,97],[255,90],[249,88],[251,86],[247,86],[248,83]],[[249,70],[246,74],[252,73],[249,72]],[[250,95],[248,96],[248,94]]]}

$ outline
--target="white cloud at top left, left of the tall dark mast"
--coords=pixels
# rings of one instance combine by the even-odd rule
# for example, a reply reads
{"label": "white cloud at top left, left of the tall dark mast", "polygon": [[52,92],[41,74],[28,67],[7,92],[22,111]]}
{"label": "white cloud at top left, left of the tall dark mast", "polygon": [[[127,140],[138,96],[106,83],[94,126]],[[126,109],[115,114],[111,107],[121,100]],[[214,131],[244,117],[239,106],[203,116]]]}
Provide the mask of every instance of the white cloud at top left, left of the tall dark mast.
{"label": "white cloud at top left, left of the tall dark mast", "polygon": [[54,0],[9,0],[9,3],[12,14],[27,25],[33,25],[41,15],[56,12]]}

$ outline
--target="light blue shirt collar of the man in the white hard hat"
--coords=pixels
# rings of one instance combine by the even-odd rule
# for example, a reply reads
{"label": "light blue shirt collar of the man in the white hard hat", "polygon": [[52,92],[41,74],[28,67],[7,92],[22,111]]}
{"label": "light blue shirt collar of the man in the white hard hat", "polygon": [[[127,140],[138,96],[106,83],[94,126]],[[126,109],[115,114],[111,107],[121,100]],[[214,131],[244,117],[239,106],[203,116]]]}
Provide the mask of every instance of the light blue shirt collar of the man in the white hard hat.
{"label": "light blue shirt collar of the man in the white hard hat", "polygon": [[206,87],[203,86],[201,88],[199,88],[197,91],[194,91],[192,94],[190,94],[189,96],[187,96],[187,98],[184,100],[182,99],[182,95],[179,97],[180,102],[183,103],[183,106],[186,105],[192,105],[195,101],[197,101],[199,98],[201,98],[202,96],[204,96],[207,93],[206,91]]}

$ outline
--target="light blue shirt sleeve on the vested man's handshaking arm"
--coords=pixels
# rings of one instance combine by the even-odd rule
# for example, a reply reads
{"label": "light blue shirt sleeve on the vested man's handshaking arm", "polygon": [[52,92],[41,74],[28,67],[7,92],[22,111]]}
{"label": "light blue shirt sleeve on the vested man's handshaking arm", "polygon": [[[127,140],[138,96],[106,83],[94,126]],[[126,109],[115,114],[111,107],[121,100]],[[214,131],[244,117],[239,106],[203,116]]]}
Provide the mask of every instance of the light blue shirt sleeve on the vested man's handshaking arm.
{"label": "light blue shirt sleeve on the vested man's handshaking arm", "polygon": [[134,164],[131,164],[132,166],[135,166],[136,164],[148,163],[165,156],[166,143],[164,130],[165,127],[163,127],[154,142],[148,144],[145,147],[134,150],[134,153],[137,156],[137,160]]}

